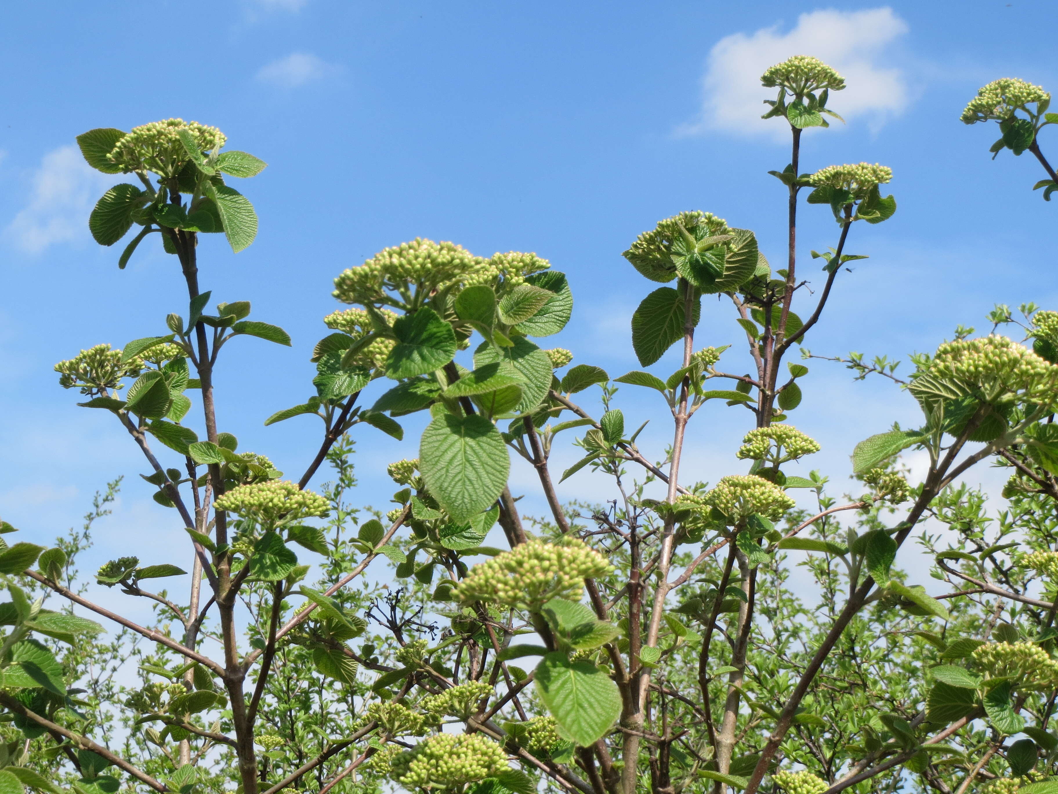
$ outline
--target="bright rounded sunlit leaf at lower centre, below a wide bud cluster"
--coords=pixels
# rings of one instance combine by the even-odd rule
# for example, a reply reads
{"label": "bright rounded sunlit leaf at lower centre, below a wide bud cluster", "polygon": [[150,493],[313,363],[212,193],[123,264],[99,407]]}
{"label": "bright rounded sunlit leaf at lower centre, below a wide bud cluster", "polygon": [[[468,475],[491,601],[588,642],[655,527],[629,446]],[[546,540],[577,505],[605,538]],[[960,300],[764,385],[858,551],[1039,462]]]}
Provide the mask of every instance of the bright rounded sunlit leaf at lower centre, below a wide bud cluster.
{"label": "bright rounded sunlit leaf at lower centre, below a wide bud cluster", "polygon": [[590,662],[548,653],[536,665],[536,692],[562,733],[586,747],[602,738],[621,715],[617,685]]}

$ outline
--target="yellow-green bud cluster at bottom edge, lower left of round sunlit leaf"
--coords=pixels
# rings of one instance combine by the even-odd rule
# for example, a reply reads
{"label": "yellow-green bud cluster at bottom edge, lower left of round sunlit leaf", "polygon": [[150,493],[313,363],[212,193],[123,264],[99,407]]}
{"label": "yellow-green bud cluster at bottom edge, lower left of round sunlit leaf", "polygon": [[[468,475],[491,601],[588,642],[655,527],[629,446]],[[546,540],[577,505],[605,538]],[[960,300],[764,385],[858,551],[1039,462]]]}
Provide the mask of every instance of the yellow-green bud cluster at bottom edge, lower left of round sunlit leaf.
{"label": "yellow-green bud cluster at bottom edge, lower left of round sunlit leaf", "polygon": [[405,789],[450,789],[498,775],[507,755],[480,734],[437,734],[395,755],[390,769]]}

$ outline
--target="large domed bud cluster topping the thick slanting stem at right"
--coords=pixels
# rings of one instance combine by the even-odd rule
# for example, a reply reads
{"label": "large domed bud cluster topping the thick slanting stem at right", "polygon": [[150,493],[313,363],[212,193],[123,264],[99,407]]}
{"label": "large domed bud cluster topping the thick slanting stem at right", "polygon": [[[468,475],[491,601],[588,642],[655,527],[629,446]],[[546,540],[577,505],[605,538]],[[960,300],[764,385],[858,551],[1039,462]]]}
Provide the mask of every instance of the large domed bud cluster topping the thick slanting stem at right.
{"label": "large domed bud cluster topping the thick slanting stem at right", "polygon": [[926,372],[980,389],[986,399],[1006,393],[1018,393],[1041,404],[1058,399],[1058,366],[1006,337],[945,342]]}

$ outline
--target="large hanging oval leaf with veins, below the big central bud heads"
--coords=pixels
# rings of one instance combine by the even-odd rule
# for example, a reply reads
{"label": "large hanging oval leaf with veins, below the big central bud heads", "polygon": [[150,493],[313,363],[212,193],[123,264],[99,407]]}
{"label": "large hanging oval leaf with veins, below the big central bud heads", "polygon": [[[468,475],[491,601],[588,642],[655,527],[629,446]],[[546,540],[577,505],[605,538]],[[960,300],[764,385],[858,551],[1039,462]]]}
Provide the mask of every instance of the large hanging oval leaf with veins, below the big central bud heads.
{"label": "large hanging oval leaf with veins, below the big central bud heads", "polygon": [[496,501],[510,458],[499,431],[484,416],[442,414],[423,431],[419,470],[431,495],[461,523]]}

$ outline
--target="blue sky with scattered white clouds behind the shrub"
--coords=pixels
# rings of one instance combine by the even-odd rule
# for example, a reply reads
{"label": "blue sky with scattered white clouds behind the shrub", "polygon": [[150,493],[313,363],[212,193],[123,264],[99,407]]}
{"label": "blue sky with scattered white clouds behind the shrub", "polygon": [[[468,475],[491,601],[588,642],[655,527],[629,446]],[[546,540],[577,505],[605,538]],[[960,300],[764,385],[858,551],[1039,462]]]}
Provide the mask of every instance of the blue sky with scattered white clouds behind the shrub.
{"label": "blue sky with scattered white clouds behind the shrub", "polygon": [[[293,348],[239,340],[219,377],[222,430],[296,479],[318,444],[309,418],[263,428],[311,392],[321,318],[338,308],[331,279],[383,247],[415,236],[480,255],[535,251],[570,278],[573,321],[553,344],[617,376],[638,368],[628,321],[652,285],[620,256],[663,217],[701,209],[753,229],[783,256],[785,199],[767,176],[788,161],[782,125],[760,121],[764,67],[791,54],[832,62],[849,78],[831,107],[849,119],[806,136],[803,169],[867,160],[893,167],[899,203],[889,222],[854,229],[870,254],[842,273],[833,306],[807,340],[814,353],[904,358],[933,348],[959,323],[987,331],[996,302],[1055,307],[1048,241],[1058,207],[1033,194],[1029,156],[992,162],[995,128],[959,122],[978,87],[1019,76],[1058,87],[1058,59],[1038,31],[1058,23],[1046,2],[360,3],[327,0],[109,2],[8,10],[0,31],[0,516],[45,542],[77,522],[91,493],[117,474],[126,488],[101,524],[105,560],[180,537],[175,513],[150,501],[147,471],[102,411],[56,384],[54,362],[98,342],[163,332],[185,311],[175,261],[138,253],[118,271],[114,249],[87,232],[95,199],[116,179],[79,162],[74,137],[181,116],[219,126],[229,146],[269,162],[242,188],[260,233],[233,255],[200,247],[203,288],[250,300],[254,318],[284,326]],[[1048,132],[1044,151],[1058,155]],[[825,207],[802,210],[809,249],[835,242]],[[120,247],[118,247],[120,248]],[[802,308],[802,313],[807,313]],[[724,306],[707,303],[699,344],[737,341]],[[672,356],[670,356],[672,358]],[[837,487],[862,437],[913,404],[886,383],[810,362],[804,408],[790,421],[823,452],[806,462]],[[732,348],[725,365],[745,371]],[[655,367],[675,367],[665,359]],[[383,385],[373,389],[381,392]],[[627,425],[657,418],[644,447],[660,454],[663,405],[626,387]],[[373,394],[369,399],[373,399]],[[594,398],[591,399],[594,401]],[[723,405],[692,425],[688,476],[715,481],[733,459],[748,413]],[[391,492],[386,463],[416,454],[358,429],[363,502]],[[576,450],[557,452],[558,465]],[[987,477],[986,477],[987,479]],[[531,477],[514,473],[539,512]],[[603,499],[587,474],[567,499]],[[149,547],[149,546],[148,546]],[[145,560],[153,562],[154,560]]]}

